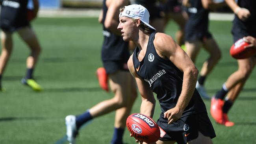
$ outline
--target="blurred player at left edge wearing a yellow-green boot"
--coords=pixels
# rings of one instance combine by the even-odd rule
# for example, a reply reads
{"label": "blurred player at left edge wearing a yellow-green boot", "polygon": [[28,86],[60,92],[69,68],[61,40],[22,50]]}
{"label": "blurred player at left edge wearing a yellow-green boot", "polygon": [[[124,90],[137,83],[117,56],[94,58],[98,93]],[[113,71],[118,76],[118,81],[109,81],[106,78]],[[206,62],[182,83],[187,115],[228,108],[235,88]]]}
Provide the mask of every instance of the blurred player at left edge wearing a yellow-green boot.
{"label": "blurred player at left edge wearing a yellow-green boot", "polygon": [[3,91],[1,81],[7,62],[13,50],[12,35],[15,31],[21,39],[26,42],[31,50],[27,58],[26,76],[21,79],[24,85],[32,87],[33,90],[40,91],[42,87],[33,79],[33,71],[37,63],[37,59],[41,52],[41,47],[37,40],[35,32],[30,26],[30,20],[36,17],[39,3],[33,0],[33,10],[27,9],[28,0],[1,0],[1,44],[2,52],[0,55],[0,91]]}

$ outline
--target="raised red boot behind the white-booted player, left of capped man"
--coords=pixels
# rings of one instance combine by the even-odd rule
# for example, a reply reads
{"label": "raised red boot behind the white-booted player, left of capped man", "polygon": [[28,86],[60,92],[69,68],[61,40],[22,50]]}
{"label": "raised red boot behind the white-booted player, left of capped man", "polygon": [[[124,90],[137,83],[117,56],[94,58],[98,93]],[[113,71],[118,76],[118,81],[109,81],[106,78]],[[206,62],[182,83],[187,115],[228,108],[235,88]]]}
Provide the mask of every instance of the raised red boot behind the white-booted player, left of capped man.
{"label": "raised red boot behind the white-booted player, left of capped man", "polygon": [[105,70],[105,68],[100,67],[96,70],[97,78],[100,84],[100,87],[107,92],[109,91],[108,89],[108,74]]}

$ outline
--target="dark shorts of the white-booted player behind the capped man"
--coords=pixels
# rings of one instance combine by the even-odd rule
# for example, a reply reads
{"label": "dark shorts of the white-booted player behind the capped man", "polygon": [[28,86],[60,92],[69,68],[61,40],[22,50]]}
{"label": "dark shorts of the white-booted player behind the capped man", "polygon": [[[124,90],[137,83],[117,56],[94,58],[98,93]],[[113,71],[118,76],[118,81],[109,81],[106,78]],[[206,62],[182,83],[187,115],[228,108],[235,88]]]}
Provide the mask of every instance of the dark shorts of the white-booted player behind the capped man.
{"label": "dark shorts of the white-booted player behind the capped man", "polygon": [[107,74],[112,74],[118,70],[129,71],[127,61],[103,61],[103,66]]}

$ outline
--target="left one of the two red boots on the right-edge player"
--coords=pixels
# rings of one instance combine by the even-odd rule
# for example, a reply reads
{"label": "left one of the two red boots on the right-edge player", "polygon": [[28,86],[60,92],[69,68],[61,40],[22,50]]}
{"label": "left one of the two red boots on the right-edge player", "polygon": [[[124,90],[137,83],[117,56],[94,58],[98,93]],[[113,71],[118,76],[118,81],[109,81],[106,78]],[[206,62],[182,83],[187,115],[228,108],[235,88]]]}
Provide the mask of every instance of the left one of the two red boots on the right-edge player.
{"label": "left one of the two red boots on the right-edge player", "polygon": [[215,96],[211,98],[211,116],[219,124],[223,122],[223,105],[223,100],[216,99]]}

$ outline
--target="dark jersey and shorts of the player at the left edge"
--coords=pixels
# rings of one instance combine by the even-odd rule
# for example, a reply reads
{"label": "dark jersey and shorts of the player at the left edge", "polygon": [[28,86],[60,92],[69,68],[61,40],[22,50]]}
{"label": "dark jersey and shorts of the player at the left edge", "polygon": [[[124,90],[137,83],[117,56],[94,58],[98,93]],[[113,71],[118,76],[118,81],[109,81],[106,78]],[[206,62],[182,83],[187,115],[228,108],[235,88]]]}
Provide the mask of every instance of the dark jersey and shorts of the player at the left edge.
{"label": "dark jersey and shorts of the player at the left edge", "polygon": [[2,0],[1,28],[9,30],[29,24],[27,20],[28,0]]}

